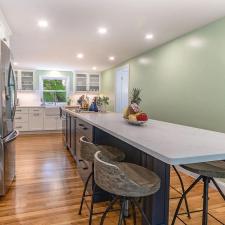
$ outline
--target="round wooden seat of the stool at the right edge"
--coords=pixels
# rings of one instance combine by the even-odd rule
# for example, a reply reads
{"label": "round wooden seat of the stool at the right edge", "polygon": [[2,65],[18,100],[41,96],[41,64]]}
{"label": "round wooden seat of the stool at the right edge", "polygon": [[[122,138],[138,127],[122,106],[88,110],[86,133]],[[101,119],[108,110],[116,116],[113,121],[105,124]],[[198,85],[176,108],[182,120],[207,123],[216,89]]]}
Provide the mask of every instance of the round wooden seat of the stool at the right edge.
{"label": "round wooden seat of the stool at the right edge", "polygon": [[182,165],[184,169],[206,177],[225,178],[225,161]]}

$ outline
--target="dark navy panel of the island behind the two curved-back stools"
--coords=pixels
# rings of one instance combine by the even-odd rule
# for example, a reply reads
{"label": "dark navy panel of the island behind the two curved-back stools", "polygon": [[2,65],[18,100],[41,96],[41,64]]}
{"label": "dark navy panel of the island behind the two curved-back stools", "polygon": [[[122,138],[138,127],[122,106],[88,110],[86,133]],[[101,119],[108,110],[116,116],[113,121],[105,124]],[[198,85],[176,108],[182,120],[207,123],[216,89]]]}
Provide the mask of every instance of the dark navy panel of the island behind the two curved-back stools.
{"label": "dark navy panel of the island behind the two curved-back stools", "polygon": [[[118,147],[126,154],[126,162],[141,165],[158,174],[161,178],[161,188],[155,195],[144,199],[144,211],[151,224],[167,225],[170,166],[98,128],[94,128],[94,143]],[[146,225],[144,220],[142,225]]]}

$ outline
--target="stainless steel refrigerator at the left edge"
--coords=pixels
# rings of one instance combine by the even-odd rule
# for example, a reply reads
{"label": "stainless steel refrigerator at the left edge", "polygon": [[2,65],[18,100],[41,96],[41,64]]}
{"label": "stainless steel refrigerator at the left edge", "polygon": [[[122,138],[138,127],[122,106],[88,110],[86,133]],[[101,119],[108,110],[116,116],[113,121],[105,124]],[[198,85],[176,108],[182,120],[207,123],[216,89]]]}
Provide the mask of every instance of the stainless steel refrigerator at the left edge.
{"label": "stainless steel refrigerator at the left edge", "polygon": [[15,177],[14,130],[16,84],[8,46],[0,42],[0,195],[5,195]]}

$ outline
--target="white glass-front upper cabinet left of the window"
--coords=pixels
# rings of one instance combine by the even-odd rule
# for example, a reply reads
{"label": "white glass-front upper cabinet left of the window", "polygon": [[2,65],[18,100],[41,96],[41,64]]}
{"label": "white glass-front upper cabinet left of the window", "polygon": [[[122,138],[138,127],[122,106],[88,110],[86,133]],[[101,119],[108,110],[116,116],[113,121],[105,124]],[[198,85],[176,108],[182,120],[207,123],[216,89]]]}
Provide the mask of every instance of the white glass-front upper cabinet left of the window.
{"label": "white glass-front upper cabinet left of the window", "polygon": [[16,84],[19,91],[34,90],[34,72],[25,70],[16,70]]}

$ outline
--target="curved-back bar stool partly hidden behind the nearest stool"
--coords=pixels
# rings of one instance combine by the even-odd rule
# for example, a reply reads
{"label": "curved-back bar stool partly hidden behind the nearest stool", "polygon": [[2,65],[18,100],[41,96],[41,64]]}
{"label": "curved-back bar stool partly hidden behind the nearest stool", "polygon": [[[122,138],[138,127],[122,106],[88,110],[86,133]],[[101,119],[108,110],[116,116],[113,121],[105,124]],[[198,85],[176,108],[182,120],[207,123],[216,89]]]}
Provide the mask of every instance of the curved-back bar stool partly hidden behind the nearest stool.
{"label": "curved-back bar stool partly hidden behind the nearest stool", "polygon": [[89,195],[86,195],[87,187],[88,187],[90,180],[92,179],[92,192],[93,193],[92,193],[92,200],[91,200],[89,225],[91,225],[91,223],[92,223],[93,204],[94,204],[93,196],[95,193],[94,176],[93,176],[94,175],[94,155],[99,150],[102,152],[102,154],[105,155],[105,157],[109,158],[112,161],[122,161],[125,159],[124,152],[122,152],[121,150],[119,150],[116,147],[108,146],[108,145],[95,145],[94,143],[89,142],[85,136],[80,138],[80,157],[82,160],[92,163],[91,173],[89,174],[89,176],[85,182],[82,199],[81,199],[81,203],[80,203],[80,209],[79,209],[79,215],[81,215],[85,197],[89,196]]}

